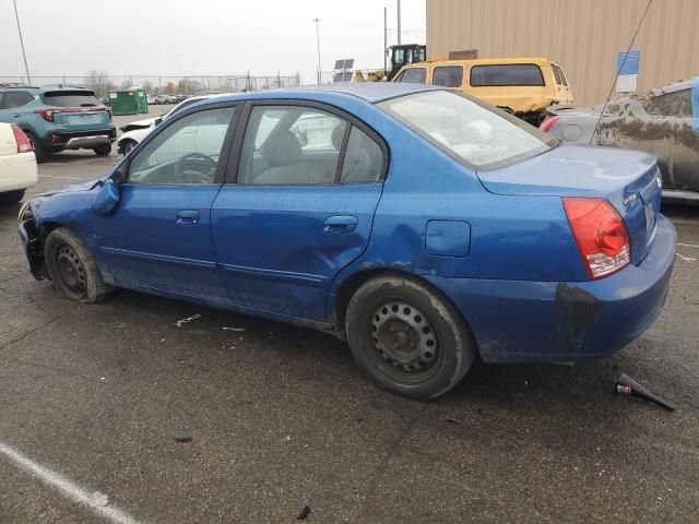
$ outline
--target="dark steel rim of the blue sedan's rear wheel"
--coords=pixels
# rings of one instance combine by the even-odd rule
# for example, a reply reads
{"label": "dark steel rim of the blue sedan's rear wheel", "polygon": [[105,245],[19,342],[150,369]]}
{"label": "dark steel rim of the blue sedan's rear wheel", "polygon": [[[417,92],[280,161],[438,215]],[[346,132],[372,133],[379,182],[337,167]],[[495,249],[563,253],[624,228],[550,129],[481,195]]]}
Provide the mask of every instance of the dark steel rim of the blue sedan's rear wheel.
{"label": "dark steel rim of the blue sedan's rear wheel", "polygon": [[439,338],[429,318],[405,300],[391,300],[371,313],[371,342],[378,356],[391,367],[418,378],[434,370]]}

